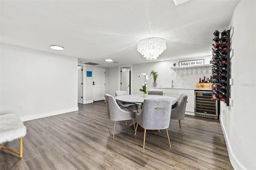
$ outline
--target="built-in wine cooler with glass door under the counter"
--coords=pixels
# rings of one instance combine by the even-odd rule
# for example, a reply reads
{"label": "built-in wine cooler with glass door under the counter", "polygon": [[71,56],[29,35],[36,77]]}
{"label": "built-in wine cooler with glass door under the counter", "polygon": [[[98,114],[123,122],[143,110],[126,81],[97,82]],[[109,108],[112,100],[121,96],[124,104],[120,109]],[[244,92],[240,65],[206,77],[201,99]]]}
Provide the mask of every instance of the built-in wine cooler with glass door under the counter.
{"label": "built-in wine cooler with glass door under the counter", "polygon": [[212,99],[212,91],[195,91],[195,116],[218,119],[219,101]]}

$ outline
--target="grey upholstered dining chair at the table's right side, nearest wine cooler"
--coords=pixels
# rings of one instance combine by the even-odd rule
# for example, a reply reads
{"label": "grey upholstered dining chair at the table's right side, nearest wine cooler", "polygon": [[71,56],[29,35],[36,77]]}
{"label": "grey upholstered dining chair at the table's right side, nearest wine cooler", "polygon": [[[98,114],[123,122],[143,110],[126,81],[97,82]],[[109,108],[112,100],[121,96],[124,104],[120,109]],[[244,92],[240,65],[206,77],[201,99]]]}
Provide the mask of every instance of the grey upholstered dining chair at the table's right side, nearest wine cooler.
{"label": "grey upholstered dining chair at the table's right side, nearest wine cooler", "polygon": [[181,135],[183,136],[181,120],[185,117],[185,110],[187,105],[188,96],[185,94],[180,95],[178,100],[172,105],[171,119],[179,120]]}

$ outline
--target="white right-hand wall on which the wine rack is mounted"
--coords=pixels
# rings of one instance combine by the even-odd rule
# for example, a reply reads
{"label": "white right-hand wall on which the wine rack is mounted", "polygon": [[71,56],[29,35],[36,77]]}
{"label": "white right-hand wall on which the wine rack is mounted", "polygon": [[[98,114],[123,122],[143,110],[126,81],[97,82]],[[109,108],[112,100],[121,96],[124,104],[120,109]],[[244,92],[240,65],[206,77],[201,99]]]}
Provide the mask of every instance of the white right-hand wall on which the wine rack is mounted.
{"label": "white right-hand wall on which the wine rack is mounted", "polygon": [[[236,7],[230,59],[230,97],[234,106],[220,102],[220,121],[234,169],[256,169],[256,1],[242,0]],[[224,113],[223,113],[224,112]]]}

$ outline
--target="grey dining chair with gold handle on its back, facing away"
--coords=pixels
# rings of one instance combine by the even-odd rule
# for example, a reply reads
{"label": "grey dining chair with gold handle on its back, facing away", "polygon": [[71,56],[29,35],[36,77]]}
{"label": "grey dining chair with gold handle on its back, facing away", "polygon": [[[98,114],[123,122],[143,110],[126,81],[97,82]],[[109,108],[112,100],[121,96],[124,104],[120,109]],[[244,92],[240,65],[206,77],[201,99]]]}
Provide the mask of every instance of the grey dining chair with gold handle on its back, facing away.
{"label": "grey dining chair with gold handle on its back, facing away", "polygon": [[144,128],[143,148],[145,148],[146,129],[159,130],[166,129],[169,145],[171,147],[170,138],[167,128],[170,125],[170,117],[172,111],[172,100],[170,99],[144,99],[141,113],[135,114],[138,124]]}

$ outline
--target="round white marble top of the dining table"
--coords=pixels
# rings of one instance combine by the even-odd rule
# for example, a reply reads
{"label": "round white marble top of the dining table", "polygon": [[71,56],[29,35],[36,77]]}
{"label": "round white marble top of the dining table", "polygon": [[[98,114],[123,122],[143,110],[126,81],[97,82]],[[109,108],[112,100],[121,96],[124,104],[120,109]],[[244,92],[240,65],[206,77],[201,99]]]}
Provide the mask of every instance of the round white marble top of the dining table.
{"label": "round white marble top of the dining table", "polygon": [[172,99],[172,104],[174,104],[177,100],[175,97],[162,95],[148,95],[148,97],[143,97],[143,95],[121,95],[116,96],[115,99],[130,103],[143,103],[144,99]]}

